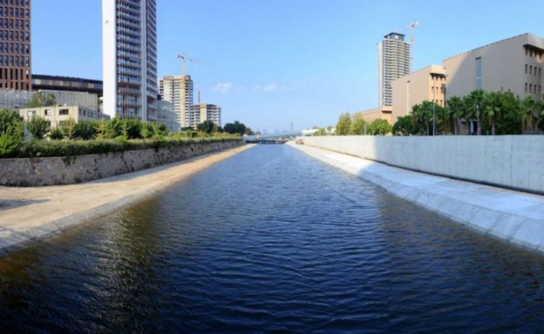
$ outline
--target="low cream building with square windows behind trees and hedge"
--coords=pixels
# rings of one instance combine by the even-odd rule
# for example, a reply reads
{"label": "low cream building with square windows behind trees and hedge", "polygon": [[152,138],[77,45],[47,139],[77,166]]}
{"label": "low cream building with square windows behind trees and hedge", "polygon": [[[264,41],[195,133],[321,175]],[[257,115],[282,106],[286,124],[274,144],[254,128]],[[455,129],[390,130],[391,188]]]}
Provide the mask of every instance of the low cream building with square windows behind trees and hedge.
{"label": "low cream building with square windows behind trees and hedge", "polygon": [[23,108],[19,109],[19,115],[25,120],[32,116],[42,116],[51,122],[52,127],[59,127],[72,118],[74,121],[86,121],[94,119],[109,120],[109,115],[101,114],[96,110],[80,107],[79,105],[52,105],[50,107]]}

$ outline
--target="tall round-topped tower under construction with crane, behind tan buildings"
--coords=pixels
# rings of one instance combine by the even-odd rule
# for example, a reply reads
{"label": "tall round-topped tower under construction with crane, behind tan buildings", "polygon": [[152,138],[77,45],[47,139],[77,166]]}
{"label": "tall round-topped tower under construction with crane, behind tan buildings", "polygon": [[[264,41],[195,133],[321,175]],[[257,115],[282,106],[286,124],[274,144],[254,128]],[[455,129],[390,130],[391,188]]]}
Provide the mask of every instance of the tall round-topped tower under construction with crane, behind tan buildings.
{"label": "tall round-topped tower under construction with crane, behind tan buildings", "polygon": [[410,43],[391,32],[378,43],[378,102],[393,105],[391,81],[410,73]]}

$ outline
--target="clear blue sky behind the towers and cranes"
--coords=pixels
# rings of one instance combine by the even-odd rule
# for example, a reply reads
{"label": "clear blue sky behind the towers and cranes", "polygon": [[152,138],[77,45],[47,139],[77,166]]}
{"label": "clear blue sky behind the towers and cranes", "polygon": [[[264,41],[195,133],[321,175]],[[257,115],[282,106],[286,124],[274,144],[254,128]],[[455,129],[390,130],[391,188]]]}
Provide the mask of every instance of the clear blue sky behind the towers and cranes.
{"label": "clear blue sky behind the towers and cranes", "polygon": [[[101,0],[32,1],[32,72],[102,79]],[[252,129],[334,125],[377,105],[377,42],[410,21],[414,68],[544,36],[544,1],[157,0],[158,76],[189,64],[202,102]],[[408,31],[406,31],[408,34]]]}

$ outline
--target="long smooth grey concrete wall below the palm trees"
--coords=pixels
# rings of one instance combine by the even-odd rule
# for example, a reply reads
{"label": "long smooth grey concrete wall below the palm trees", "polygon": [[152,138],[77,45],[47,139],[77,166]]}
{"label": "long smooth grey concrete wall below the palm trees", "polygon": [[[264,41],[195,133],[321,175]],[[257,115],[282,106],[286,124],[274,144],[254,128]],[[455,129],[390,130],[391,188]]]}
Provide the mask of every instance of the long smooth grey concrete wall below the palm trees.
{"label": "long smooth grey concrete wall below the palm trees", "polygon": [[306,145],[544,194],[544,136],[314,136]]}

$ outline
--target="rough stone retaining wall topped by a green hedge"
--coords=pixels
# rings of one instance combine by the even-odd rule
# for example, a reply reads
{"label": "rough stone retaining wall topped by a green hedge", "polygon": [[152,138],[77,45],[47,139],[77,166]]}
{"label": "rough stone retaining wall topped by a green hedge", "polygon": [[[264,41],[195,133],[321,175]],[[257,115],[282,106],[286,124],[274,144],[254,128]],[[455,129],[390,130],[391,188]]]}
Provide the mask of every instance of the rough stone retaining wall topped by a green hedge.
{"label": "rough stone retaining wall topped by a green hedge", "polygon": [[0,185],[45,186],[107,178],[242,145],[242,140],[75,157],[0,159]]}

